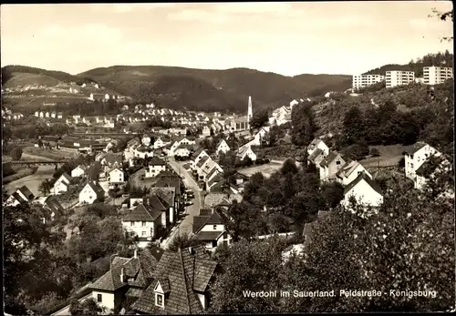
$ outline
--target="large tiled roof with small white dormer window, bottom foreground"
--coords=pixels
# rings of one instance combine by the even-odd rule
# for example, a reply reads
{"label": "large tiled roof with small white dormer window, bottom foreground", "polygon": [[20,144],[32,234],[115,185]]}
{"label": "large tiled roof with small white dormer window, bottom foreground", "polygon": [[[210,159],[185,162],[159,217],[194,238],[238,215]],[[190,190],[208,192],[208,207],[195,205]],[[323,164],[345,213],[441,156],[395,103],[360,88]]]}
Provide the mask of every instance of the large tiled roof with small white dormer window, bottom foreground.
{"label": "large tiled roof with small white dormer window, bottom foreground", "polygon": [[153,281],[132,305],[137,314],[201,314],[210,303],[210,288],[220,271],[202,247],[165,251]]}

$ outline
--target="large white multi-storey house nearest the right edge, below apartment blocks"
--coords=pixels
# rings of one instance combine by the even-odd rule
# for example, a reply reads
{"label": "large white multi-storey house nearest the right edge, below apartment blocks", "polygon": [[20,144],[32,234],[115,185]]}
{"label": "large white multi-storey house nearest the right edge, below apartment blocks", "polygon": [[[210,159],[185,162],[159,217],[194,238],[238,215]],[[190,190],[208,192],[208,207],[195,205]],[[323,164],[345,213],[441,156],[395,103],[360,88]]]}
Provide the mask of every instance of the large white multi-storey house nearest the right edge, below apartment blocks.
{"label": "large white multi-storey house nearest the right edge, below apartment blocks", "polygon": [[406,148],[405,160],[405,176],[415,181],[416,170],[428,159],[430,156],[440,157],[441,153],[430,145],[418,142]]}

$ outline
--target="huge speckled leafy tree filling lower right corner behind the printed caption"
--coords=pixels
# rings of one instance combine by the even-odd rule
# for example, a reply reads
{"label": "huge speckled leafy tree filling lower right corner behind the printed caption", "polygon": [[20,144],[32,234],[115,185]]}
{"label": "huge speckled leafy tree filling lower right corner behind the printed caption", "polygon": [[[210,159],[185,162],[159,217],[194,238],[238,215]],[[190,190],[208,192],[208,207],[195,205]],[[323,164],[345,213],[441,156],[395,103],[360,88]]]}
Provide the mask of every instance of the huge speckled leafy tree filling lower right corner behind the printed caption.
{"label": "huge speckled leafy tree filling lower right corner behind the printed caption", "polygon": [[[285,311],[448,311],[454,308],[454,199],[408,187],[391,189],[378,212],[360,205],[333,209],[316,222],[306,260],[285,270],[285,289],[376,289],[368,297],[292,298]],[[430,295],[394,296],[393,290]]]}

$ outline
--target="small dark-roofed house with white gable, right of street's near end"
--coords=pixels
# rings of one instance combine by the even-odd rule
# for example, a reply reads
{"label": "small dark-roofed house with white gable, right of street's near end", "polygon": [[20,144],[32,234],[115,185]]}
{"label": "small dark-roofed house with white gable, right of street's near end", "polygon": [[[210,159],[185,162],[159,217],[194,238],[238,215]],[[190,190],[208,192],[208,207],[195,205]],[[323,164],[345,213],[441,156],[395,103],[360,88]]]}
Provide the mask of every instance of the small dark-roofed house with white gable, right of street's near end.
{"label": "small dark-roofed house with white gable, right of street's near end", "polygon": [[231,241],[222,217],[214,209],[200,209],[200,214],[193,217],[193,234],[197,240],[204,241],[207,250],[215,250],[221,244],[229,245]]}

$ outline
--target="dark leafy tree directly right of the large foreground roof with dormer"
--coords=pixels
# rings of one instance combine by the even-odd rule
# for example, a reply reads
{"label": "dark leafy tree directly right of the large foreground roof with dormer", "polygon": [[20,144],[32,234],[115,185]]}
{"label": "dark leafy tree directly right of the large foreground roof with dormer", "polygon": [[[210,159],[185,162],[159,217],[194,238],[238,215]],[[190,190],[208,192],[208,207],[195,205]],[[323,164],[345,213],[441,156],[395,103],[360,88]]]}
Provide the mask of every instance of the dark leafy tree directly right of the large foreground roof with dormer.
{"label": "dark leafy tree directly right of the large foreground roof with dormer", "polygon": [[234,243],[224,260],[224,273],[214,283],[212,306],[215,313],[270,313],[278,311],[277,298],[249,297],[247,292],[280,291],[282,250],[277,239]]}

